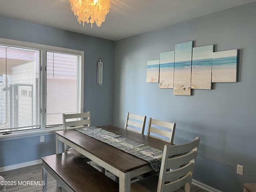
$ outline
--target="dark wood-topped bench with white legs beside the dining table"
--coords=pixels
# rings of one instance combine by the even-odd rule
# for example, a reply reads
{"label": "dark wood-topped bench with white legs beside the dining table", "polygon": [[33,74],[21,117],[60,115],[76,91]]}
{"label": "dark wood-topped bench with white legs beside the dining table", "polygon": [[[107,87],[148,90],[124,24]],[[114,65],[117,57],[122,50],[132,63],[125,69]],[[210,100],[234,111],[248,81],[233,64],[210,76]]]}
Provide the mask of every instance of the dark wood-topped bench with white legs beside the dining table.
{"label": "dark wood-topped bench with white legs beside the dining table", "polygon": [[47,191],[47,173],[67,192],[118,192],[119,185],[71,152],[41,158],[43,192]]}

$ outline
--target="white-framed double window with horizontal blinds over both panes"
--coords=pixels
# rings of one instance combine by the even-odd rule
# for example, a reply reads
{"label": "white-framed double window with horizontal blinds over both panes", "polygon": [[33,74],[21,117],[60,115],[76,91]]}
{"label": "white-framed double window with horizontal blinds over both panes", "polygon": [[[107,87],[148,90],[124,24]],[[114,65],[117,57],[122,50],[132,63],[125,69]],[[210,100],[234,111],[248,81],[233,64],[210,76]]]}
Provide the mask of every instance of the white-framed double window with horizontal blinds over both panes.
{"label": "white-framed double window with horizontal blinds over both panes", "polygon": [[82,51],[1,40],[0,132],[62,126],[63,113],[83,111]]}

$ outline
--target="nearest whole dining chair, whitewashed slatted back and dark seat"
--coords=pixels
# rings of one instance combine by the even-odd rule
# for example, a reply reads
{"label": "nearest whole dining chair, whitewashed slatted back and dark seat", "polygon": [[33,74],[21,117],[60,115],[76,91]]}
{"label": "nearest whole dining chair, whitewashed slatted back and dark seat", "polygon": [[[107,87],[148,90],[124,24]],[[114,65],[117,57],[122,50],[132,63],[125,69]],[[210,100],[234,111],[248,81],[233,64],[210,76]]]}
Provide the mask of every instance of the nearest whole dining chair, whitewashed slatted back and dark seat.
{"label": "nearest whole dining chair, whitewashed slatted back and dark seat", "polygon": [[190,192],[200,138],[165,145],[159,176],[154,174],[131,184],[131,192]]}

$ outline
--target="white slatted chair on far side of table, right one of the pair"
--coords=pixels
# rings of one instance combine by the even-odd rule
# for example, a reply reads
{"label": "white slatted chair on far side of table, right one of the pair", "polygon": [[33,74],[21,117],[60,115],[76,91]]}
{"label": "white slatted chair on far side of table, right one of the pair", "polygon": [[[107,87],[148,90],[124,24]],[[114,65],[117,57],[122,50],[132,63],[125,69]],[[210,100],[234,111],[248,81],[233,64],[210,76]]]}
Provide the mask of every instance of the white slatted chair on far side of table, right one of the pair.
{"label": "white slatted chair on far side of table, right one of the pair", "polygon": [[176,123],[149,118],[147,136],[173,144]]}

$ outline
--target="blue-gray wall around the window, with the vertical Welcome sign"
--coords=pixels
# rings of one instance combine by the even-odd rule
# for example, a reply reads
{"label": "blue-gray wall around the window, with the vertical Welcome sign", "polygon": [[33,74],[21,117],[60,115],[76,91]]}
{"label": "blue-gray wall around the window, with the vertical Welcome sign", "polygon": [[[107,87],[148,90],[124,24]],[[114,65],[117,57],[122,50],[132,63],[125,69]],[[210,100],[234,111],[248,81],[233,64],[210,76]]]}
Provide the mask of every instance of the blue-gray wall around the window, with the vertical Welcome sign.
{"label": "blue-gray wall around the window, with the vertical Welcome sign", "polygon": [[[84,111],[93,126],[112,124],[114,41],[0,17],[0,38],[84,51]],[[97,86],[97,61],[102,58],[103,86]],[[43,134],[42,134],[43,135]],[[38,160],[55,153],[55,136],[0,141],[0,167]]]}

